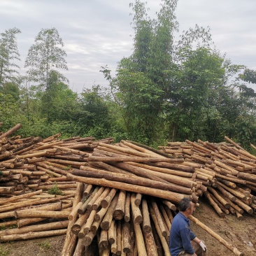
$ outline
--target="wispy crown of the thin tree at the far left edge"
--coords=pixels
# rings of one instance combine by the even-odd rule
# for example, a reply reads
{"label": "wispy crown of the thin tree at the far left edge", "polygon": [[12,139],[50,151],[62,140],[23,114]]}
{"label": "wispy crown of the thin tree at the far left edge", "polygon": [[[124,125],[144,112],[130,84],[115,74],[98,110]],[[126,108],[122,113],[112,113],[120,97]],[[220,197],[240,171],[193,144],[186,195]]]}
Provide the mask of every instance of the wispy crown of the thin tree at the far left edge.
{"label": "wispy crown of the thin tree at the far left edge", "polygon": [[20,61],[20,54],[17,49],[16,34],[21,33],[20,29],[7,29],[0,34],[0,88],[4,83],[17,84],[17,61]]}

